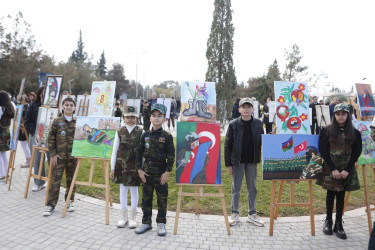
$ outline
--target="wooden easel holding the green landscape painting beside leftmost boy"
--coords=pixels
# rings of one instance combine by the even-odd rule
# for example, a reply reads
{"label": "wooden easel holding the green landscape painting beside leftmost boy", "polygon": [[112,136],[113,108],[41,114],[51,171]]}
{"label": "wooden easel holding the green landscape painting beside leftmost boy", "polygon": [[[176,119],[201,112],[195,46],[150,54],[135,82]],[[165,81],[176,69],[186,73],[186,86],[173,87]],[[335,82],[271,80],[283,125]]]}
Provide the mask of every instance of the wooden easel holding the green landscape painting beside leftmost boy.
{"label": "wooden easel holding the green landscape painting beside leftmost boy", "polygon": [[[89,158],[89,157],[75,157],[75,158],[77,159],[77,166],[76,166],[76,170],[74,172],[72,184],[70,185],[68,196],[66,197],[65,207],[64,207],[64,211],[62,213],[62,217],[63,218],[65,217],[66,211],[68,209],[70,197],[72,196],[72,193],[73,193],[74,185],[77,184],[77,185],[83,185],[83,186],[88,186],[88,187],[105,188],[105,224],[108,225],[109,224],[109,205],[112,206],[112,198],[111,198],[110,186],[109,186],[109,173],[108,173],[109,172],[109,161],[110,161],[110,159]],[[81,163],[82,163],[82,159],[91,160],[91,169],[90,169],[90,176],[89,176],[88,182],[77,181],[77,176],[78,176],[79,168],[80,168]],[[92,182],[92,178],[94,176],[95,161],[101,161],[102,162],[105,184],[98,184],[98,183]]]}

